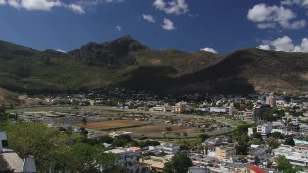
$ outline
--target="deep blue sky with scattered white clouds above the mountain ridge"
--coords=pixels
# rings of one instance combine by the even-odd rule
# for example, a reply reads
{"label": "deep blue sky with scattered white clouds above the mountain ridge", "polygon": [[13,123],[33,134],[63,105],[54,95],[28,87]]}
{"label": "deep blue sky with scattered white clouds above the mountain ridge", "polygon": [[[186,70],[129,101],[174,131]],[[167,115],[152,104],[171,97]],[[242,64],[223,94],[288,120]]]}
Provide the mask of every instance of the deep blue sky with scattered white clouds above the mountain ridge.
{"label": "deep blue sky with scattered white clouds above the mountain ridge", "polygon": [[157,50],[308,52],[308,0],[0,0],[0,40],[70,51],[130,35]]}

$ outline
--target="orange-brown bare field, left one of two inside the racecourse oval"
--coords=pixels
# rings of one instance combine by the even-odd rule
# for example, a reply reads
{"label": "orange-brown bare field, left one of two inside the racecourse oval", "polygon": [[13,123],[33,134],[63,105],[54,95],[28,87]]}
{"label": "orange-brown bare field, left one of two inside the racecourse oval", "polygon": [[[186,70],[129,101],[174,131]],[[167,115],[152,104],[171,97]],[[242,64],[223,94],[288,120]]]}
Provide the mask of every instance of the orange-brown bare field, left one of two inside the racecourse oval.
{"label": "orange-brown bare field, left one of two inside the racecourse oval", "polygon": [[[104,122],[93,122],[88,123],[86,128],[91,129],[98,129],[98,130],[108,130],[108,129],[115,129],[115,128],[123,128],[123,127],[132,127],[138,125],[146,125],[152,124],[152,122],[146,121],[129,121],[129,120],[115,120],[115,121],[104,121]],[[82,127],[83,124],[75,124],[76,126]]]}

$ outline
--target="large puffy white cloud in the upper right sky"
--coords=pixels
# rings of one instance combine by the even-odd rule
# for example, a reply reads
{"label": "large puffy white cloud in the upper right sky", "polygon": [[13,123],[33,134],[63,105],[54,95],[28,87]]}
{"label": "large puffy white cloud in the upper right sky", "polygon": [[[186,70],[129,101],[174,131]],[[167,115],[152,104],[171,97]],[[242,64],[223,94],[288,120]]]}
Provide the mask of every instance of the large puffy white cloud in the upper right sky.
{"label": "large puffy white cloud in the upper right sky", "polygon": [[305,20],[293,21],[296,14],[290,9],[282,6],[268,6],[266,4],[257,4],[249,9],[247,19],[259,23],[259,28],[274,28],[274,24],[279,24],[282,28],[286,29],[299,29],[306,26]]}

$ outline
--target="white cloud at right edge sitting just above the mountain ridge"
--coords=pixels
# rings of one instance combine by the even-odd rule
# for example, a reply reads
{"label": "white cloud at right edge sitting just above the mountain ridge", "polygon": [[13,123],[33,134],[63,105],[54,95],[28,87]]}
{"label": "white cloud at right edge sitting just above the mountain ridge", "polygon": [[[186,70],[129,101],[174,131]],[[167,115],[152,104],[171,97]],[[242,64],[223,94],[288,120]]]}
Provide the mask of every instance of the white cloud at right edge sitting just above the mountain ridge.
{"label": "white cloud at right edge sitting just above the mountain ridge", "polygon": [[284,36],[276,40],[263,40],[263,45],[258,48],[271,50],[274,47],[275,51],[285,51],[285,52],[308,52],[308,39],[303,38],[300,45],[294,45],[290,37]]}

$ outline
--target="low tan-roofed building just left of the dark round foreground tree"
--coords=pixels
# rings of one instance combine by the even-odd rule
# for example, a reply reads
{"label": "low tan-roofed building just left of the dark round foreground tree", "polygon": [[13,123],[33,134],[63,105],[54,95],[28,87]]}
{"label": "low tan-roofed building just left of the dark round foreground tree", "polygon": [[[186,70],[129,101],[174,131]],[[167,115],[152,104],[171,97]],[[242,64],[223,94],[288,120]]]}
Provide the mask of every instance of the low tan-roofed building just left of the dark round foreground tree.
{"label": "low tan-roofed building just left of the dark round foreground tree", "polygon": [[147,156],[139,159],[140,162],[150,164],[151,171],[162,171],[170,161],[166,157]]}

